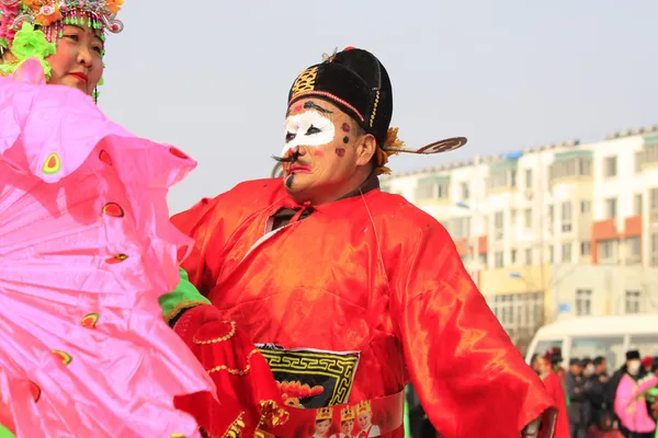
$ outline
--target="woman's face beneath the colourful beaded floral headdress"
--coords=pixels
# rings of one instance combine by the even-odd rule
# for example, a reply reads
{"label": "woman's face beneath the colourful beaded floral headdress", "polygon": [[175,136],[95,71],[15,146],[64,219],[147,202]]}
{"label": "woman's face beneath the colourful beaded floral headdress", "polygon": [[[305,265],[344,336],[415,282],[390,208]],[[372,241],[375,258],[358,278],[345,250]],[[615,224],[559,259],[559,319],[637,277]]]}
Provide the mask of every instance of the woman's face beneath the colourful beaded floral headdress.
{"label": "woman's face beneath the colourful beaded floral headdress", "polygon": [[47,58],[53,68],[48,83],[91,94],[103,76],[103,41],[87,25],[66,25],[57,39],[57,54]]}

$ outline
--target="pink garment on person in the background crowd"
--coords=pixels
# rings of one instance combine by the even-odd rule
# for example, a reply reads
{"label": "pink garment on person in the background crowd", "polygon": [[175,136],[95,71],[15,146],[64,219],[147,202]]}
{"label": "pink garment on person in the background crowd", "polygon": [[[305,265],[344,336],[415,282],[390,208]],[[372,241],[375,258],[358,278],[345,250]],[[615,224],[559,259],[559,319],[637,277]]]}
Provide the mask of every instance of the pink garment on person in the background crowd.
{"label": "pink garment on person in the background crowd", "polygon": [[656,423],[647,412],[645,399],[634,399],[637,388],[637,382],[628,374],[622,377],[614,399],[614,412],[628,430],[640,434],[650,433],[656,430]]}

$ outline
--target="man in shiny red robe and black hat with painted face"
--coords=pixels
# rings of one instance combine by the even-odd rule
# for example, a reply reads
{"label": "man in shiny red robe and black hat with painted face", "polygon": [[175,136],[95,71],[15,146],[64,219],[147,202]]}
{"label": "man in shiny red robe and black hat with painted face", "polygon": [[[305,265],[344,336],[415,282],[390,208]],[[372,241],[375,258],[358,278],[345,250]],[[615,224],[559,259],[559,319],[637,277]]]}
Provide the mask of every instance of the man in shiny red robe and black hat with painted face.
{"label": "man in shiny red robe and black hat with painted face", "polygon": [[[405,149],[389,129],[388,74],[361,49],[304,70],[287,104],[283,177],[239,184],[172,219],[196,242],[183,264],[190,281],[257,343],[281,389],[288,420],[261,429],[313,436],[330,416],[322,434],[344,434],[350,407],[347,435],[401,437],[412,381],[444,438],[536,436],[553,401],[449,233],[379,189],[389,154],[465,139]],[[175,319],[207,318],[202,299],[189,302]]]}

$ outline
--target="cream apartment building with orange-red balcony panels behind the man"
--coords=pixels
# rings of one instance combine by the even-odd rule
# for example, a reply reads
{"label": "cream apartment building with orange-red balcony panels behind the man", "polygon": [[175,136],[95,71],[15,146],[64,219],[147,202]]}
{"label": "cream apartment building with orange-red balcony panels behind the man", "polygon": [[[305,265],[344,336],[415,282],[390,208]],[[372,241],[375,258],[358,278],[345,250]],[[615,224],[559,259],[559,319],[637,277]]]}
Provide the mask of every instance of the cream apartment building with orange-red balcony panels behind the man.
{"label": "cream apartment building with orange-red balcony panels behind the man", "polygon": [[658,312],[658,125],[383,178],[441,221],[503,325]]}

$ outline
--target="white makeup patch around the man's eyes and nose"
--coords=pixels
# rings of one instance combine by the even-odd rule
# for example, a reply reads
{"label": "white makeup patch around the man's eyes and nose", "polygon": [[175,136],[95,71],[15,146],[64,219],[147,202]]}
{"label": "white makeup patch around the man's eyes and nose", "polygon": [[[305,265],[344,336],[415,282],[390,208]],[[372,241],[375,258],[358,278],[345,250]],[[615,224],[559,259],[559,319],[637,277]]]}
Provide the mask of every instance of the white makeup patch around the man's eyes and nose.
{"label": "white makeup patch around the man's eyes and nose", "polygon": [[297,146],[327,145],[333,141],[334,134],[333,123],[317,111],[290,116],[285,119],[285,146],[281,155],[285,157],[288,150]]}

